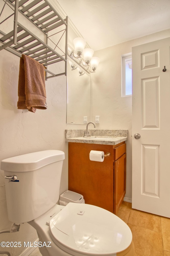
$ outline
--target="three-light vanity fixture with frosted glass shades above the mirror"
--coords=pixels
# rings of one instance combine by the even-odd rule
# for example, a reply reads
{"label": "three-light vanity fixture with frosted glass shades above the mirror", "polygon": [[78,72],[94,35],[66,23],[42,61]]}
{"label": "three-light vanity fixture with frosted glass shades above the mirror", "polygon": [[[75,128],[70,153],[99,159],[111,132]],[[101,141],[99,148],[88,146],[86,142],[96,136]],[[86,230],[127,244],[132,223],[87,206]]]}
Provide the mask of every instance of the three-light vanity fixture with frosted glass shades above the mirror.
{"label": "three-light vanity fixture with frosted glass shades above the mirror", "polygon": [[100,59],[98,57],[92,57],[94,50],[91,48],[84,48],[86,45],[84,38],[77,37],[73,40],[73,43],[76,54],[73,49],[70,51],[70,47],[68,47],[68,54],[70,57],[78,59],[79,64],[86,67],[86,70],[90,71],[91,73],[95,72],[97,66],[99,65]]}

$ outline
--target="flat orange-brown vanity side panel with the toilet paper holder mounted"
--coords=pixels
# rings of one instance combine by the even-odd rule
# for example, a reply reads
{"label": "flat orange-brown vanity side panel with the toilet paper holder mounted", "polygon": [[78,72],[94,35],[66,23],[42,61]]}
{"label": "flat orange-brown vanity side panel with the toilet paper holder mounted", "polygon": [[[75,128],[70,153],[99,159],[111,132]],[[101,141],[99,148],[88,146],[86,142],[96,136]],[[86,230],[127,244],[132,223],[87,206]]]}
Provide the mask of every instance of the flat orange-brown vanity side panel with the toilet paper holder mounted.
{"label": "flat orange-brown vanity side panel with the toilet paper holder mounted", "polygon": [[[103,162],[91,161],[91,150],[110,152]],[[85,203],[113,213],[113,146],[69,142],[69,190],[82,194]]]}

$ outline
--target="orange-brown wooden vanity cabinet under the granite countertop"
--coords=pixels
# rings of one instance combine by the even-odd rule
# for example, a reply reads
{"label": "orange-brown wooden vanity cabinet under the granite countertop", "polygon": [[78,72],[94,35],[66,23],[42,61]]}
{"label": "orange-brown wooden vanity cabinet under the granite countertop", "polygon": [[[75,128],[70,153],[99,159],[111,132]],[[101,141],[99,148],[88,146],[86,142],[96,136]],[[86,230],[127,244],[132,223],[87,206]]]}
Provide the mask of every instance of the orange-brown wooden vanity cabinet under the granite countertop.
{"label": "orange-brown wooden vanity cabinet under the granite countertop", "polygon": [[[110,152],[103,162],[91,161],[91,150]],[[69,142],[69,190],[85,203],[117,214],[126,192],[126,144],[101,145]]]}

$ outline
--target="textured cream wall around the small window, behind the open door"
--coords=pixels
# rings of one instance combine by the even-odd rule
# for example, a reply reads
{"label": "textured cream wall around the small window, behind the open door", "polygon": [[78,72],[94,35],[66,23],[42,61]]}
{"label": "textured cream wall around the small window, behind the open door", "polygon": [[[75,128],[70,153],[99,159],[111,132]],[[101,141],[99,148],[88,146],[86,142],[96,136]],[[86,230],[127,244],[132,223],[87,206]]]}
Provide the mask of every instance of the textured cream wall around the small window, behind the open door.
{"label": "textured cream wall around the small window, behind the open door", "polygon": [[94,56],[100,58],[100,63],[96,73],[92,74],[92,121],[95,115],[99,115],[100,124],[97,129],[128,130],[125,195],[128,198],[131,198],[132,193],[132,97],[121,97],[121,55],[131,53],[133,46],[169,36],[170,30],[164,30],[94,53]]}

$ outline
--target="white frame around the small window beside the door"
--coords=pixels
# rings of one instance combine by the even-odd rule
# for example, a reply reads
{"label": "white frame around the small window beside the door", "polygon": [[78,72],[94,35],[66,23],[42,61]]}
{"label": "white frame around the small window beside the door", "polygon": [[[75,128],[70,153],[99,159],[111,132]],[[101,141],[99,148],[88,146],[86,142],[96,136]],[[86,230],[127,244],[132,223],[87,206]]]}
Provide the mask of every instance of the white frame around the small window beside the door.
{"label": "white frame around the small window beside the door", "polygon": [[129,97],[132,94],[126,95],[126,65],[125,61],[132,60],[132,53],[122,55],[122,97]]}

